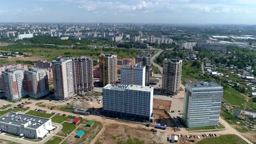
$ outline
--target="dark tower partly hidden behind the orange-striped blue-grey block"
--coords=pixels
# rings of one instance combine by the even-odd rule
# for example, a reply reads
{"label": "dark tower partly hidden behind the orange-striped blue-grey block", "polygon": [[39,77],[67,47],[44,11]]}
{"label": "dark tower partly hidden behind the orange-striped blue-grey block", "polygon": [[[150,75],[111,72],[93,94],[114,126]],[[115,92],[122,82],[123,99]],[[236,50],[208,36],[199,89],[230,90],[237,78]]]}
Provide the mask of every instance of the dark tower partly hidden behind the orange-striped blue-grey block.
{"label": "dark tower partly hidden behind the orange-striped blue-grey block", "polygon": [[136,63],[140,63],[146,67],[145,85],[149,86],[150,55],[149,54],[136,55],[135,59],[136,59]]}

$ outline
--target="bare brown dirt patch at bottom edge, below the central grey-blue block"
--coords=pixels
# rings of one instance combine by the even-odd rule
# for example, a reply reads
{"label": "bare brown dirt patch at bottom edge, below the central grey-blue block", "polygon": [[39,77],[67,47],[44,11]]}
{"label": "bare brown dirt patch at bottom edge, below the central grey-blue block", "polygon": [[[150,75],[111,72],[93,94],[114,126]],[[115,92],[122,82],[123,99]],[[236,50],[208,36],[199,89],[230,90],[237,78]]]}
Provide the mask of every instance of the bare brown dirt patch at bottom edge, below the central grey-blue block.
{"label": "bare brown dirt patch at bottom edge, below the central grey-blue block", "polygon": [[153,133],[141,127],[130,128],[123,124],[108,125],[97,141],[102,143],[126,142],[129,136],[132,139],[142,140],[144,143],[166,143],[167,141],[167,135],[164,133]]}

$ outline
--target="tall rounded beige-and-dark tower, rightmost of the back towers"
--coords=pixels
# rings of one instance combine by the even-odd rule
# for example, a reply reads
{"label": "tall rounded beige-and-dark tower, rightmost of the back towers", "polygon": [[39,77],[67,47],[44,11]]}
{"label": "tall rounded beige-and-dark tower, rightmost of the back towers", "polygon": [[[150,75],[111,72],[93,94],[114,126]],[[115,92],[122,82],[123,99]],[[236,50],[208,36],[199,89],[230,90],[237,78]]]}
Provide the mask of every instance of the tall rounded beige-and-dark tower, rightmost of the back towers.
{"label": "tall rounded beige-and-dark tower, rightmost of the back towers", "polygon": [[167,94],[175,95],[181,90],[182,60],[164,59],[162,70],[162,89]]}

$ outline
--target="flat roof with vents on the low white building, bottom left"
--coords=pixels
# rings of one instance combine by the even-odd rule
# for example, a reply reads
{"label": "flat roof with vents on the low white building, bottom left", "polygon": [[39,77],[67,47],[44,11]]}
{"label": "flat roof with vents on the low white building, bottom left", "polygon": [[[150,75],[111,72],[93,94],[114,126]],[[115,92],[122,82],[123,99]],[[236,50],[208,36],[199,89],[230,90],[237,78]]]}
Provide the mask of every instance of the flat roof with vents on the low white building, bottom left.
{"label": "flat roof with vents on the low white building, bottom left", "polygon": [[13,125],[26,125],[27,128],[37,129],[47,121],[49,118],[36,117],[31,115],[25,115],[23,113],[9,112],[0,117],[1,123],[9,123]]}

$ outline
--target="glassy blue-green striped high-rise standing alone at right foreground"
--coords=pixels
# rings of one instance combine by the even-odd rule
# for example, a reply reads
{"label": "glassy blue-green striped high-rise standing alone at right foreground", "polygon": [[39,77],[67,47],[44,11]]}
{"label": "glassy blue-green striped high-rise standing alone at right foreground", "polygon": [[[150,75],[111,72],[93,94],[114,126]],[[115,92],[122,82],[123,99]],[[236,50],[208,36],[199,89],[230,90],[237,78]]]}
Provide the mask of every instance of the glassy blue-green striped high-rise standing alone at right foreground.
{"label": "glassy blue-green striped high-rise standing alone at right foreground", "polygon": [[218,126],[223,87],[214,82],[187,83],[183,121],[187,127]]}

